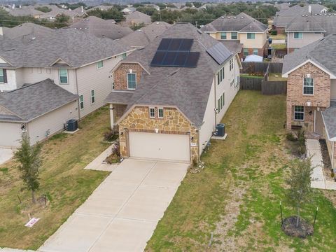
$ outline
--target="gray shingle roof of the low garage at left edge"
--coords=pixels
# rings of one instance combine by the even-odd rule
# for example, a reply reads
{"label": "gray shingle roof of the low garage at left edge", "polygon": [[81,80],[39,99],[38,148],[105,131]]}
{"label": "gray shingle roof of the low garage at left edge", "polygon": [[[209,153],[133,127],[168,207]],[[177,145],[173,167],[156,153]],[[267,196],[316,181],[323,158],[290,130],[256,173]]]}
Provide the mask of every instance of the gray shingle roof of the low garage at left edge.
{"label": "gray shingle roof of the low garage at left edge", "polygon": [[9,117],[1,115],[1,119],[19,119],[22,122],[29,122],[77,99],[78,95],[64,90],[53,80],[42,80],[10,92],[1,93],[0,106],[13,113],[13,116]]}

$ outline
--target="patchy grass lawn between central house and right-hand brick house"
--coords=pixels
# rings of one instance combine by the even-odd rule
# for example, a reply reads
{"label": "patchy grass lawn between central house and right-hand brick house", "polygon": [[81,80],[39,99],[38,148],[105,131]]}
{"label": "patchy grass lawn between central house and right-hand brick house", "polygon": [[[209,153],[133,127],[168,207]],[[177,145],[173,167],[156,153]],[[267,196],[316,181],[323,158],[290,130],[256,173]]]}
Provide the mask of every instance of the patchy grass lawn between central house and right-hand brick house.
{"label": "patchy grass lawn between central house and right-hand brick house", "polygon": [[283,196],[293,158],[285,120],[285,96],[240,91],[222,121],[228,138],[211,141],[206,168],[186,175],[146,251],[335,251],[336,209],[319,190],[302,210],[312,222],[319,208],[314,235],[302,240],[281,231],[279,202],[284,217],[295,214]]}

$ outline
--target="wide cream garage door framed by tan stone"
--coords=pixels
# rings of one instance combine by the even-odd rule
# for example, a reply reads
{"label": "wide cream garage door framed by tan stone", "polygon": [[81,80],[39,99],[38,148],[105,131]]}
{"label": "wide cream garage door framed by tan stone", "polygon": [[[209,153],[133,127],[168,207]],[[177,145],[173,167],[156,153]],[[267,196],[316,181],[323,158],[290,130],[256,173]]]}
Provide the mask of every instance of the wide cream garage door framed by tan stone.
{"label": "wide cream garage door framed by tan stone", "polygon": [[130,156],[190,161],[189,135],[129,132]]}

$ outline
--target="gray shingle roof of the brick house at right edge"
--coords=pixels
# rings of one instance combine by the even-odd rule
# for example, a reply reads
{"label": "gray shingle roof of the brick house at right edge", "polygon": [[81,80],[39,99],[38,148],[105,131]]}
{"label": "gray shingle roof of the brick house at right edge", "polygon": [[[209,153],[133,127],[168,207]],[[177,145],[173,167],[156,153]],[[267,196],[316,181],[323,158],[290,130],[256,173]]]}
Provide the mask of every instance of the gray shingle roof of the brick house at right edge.
{"label": "gray shingle roof of the brick house at right edge", "polygon": [[287,73],[296,66],[311,59],[311,61],[323,67],[323,69],[336,75],[335,53],[336,34],[330,34],[286,55],[283,59],[282,73]]}

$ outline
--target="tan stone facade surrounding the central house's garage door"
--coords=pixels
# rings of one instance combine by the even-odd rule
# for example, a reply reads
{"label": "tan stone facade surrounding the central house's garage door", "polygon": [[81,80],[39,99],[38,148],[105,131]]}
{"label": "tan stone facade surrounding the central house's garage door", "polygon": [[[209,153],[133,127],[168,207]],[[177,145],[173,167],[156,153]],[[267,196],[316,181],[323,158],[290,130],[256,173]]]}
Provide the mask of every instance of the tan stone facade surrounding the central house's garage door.
{"label": "tan stone facade surrounding the central house's garage door", "polygon": [[[155,108],[157,109],[157,108]],[[157,111],[156,111],[157,112]],[[158,115],[158,113],[155,113]],[[148,106],[136,106],[119,123],[120,155],[130,156],[128,132],[155,132],[158,134],[190,134],[190,161],[199,158],[198,130],[175,108],[164,108],[164,118],[149,118]],[[193,144],[192,144],[193,143]]]}

